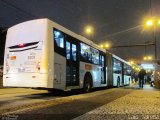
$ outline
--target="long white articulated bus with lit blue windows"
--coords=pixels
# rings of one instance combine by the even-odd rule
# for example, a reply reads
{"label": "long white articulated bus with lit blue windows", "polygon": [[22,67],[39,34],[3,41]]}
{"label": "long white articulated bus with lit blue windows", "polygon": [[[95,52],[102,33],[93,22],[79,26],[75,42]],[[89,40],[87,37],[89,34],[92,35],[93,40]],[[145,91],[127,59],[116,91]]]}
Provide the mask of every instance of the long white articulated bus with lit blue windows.
{"label": "long white articulated bus with lit blue windows", "polygon": [[131,70],[125,60],[46,18],[7,32],[4,87],[89,91],[128,85]]}

